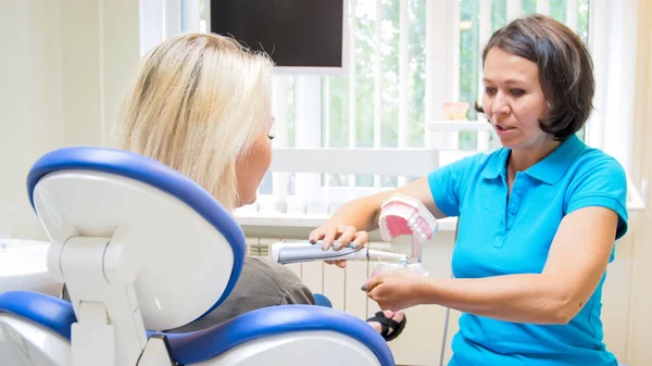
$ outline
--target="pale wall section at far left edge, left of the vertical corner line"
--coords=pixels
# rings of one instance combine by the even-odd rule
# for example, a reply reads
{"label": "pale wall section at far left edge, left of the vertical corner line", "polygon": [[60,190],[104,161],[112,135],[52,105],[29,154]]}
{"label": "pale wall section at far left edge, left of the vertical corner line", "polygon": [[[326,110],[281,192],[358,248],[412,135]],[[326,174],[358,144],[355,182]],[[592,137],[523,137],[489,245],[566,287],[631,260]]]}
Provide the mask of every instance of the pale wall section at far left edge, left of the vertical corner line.
{"label": "pale wall section at far left edge, left of the vertical corner line", "polygon": [[25,179],[64,144],[59,1],[0,1],[0,202],[15,206],[13,232],[40,236]]}

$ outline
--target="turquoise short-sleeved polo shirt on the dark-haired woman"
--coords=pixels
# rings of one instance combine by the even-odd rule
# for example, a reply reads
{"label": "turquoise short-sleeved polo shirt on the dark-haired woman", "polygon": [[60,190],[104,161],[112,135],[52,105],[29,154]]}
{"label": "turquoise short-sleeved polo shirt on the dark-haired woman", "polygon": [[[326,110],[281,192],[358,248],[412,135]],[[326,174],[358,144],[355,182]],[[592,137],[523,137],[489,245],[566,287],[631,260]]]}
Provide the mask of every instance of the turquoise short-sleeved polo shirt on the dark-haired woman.
{"label": "turquoise short-sleeved polo shirt on the dark-haired woman", "polygon": [[[546,159],[518,172],[507,200],[509,149],[446,165],[428,176],[432,198],[447,216],[459,216],[452,269],[456,278],[543,270],[562,218],[586,206],[619,216],[627,231],[623,167],[573,136]],[[611,261],[614,254],[612,253]],[[603,343],[600,312],[604,276],[567,325],[534,325],[462,314],[449,366],[615,366]]]}

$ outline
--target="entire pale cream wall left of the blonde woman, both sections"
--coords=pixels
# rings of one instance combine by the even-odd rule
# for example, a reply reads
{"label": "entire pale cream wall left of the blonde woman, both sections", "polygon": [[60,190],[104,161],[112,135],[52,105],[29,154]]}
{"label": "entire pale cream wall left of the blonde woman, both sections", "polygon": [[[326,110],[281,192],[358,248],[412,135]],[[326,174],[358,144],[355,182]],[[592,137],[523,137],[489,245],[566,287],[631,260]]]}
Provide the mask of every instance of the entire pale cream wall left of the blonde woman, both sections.
{"label": "entire pale cream wall left of the blonde woman, both sections", "polygon": [[112,146],[139,59],[138,1],[1,1],[0,35],[0,202],[15,207],[13,237],[43,239],[27,172],[57,148]]}

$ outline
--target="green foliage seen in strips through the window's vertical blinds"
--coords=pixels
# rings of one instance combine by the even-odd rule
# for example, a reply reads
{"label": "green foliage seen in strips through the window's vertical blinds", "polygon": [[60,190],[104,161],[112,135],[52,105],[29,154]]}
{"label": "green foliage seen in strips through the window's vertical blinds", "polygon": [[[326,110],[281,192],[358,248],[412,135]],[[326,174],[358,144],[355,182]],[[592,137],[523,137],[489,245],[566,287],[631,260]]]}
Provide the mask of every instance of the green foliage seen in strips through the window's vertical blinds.
{"label": "green foliage seen in strips through the window's vertical blinds", "polygon": [[[374,146],[375,119],[375,67],[376,52],[381,55],[381,147],[398,146],[399,92],[400,92],[400,11],[399,0],[381,1],[381,37],[376,41],[376,0],[359,0],[355,7],[355,146]],[[426,94],[426,1],[409,0],[409,128],[408,146],[424,146],[425,94]],[[436,0],[440,1],[440,0]],[[469,119],[477,118],[473,104],[479,101],[481,84],[481,50],[479,43],[479,1],[460,0],[460,23],[465,25],[460,30],[460,100],[468,102],[472,108],[467,113]],[[522,0],[522,15],[536,12],[536,0]],[[578,34],[582,40],[588,35],[588,1],[579,0]],[[506,24],[506,0],[491,1],[491,30],[496,31]],[[550,0],[550,15],[565,22],[566,0]],[[468,23],[469,22],[469,23]],[[471,24],[471,26],[468,26]],[[348,76],[324,76],[329,79],[329,93],[324,94],[330,104],[329,111],[329,147],[349,147],[350,119],[350,84]],[[323,83],[325,85],[325,83]],[[323,89],[326,91],[326,89]],[[439,108],[439,106],[436,106]],[[325,130],[323,130],[325,132]],[[477,134],[461,132],[460,148],[463,150],[477,148]],[[389,179],[389,180],[388,180]],[[333,177],[334,185],[346,184],[346,177]],[[393,178],[384,178],[390,184]],[[371,185],[371,177],[360,184]]]}

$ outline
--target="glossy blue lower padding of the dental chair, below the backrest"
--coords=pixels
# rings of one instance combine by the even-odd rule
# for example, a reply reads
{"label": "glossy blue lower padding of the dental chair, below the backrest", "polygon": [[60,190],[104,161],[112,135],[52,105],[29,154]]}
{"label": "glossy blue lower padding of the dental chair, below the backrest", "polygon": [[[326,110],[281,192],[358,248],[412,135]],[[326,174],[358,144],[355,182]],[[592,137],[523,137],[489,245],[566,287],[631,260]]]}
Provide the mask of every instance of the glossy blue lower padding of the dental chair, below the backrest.
{"label": "glossy blue lower padding of the dental chair, below the backrest", "polygon": [[[29,291],[0,293],[0,313],[10,313],[71,339],[76,321],[70,302]],[[380,365],[393,366],[393,356],[383,337],[365,321],[340,311],[314,305],[280,305],[242,314],[229,321],[188,333],[164,333],[172,357],[180,365],[211,359],[235,346],[263,337],[298,331],[335,331],[351,337],[378,357]]]}

